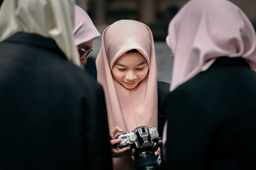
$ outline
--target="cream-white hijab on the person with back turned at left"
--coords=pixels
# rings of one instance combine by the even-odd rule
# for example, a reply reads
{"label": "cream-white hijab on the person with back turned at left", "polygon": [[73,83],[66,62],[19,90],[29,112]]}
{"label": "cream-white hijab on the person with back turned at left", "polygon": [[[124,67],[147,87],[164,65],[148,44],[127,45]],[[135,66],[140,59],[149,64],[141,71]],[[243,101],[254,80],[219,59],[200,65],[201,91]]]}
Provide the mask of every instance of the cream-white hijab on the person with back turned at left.
{"label": "cream-white hijab on the person with back turned at left", "polygon": [[6,0],[0,10],[0,41],[17,32],[52,38],[80,66],[74,44],[74,0]]}

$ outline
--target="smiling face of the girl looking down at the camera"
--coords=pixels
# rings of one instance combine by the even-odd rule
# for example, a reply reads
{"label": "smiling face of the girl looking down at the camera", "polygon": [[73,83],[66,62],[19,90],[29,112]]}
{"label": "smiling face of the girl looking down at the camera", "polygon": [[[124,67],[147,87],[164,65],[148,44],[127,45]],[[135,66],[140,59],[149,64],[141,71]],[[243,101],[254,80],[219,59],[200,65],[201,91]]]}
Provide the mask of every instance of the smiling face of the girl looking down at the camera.
{"label": "smiling face of the girl looking down at the camera", "polygon": [[124,53],[116,60],[111,70],[114,80],[125,89],[132,90],[148,74],[147,60],[140,52]]}

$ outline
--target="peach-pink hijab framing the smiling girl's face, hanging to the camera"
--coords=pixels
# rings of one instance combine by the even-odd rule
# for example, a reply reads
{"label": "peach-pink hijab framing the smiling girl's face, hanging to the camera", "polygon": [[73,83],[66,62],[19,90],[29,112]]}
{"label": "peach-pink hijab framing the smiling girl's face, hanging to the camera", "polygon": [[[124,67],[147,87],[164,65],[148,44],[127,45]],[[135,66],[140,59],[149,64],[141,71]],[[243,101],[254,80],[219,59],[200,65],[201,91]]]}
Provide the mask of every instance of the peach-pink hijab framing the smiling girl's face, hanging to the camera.
{"label": "peach-pink hijab framing the smiling girl's face, hanging to the camera", "polygon": [[[115,61],[136,49],[147,60],[149,71],[138,88],[127,90],[111,74]],[[149,27],[135,20],[119,20],[105,29],[96,59],[97,78],[104,88],[109,130],[116,126],[125,132],[147,125],[157,127],[157,66],[154,39]],[[134,169],[129,157],[113,159],[114,169]]]}

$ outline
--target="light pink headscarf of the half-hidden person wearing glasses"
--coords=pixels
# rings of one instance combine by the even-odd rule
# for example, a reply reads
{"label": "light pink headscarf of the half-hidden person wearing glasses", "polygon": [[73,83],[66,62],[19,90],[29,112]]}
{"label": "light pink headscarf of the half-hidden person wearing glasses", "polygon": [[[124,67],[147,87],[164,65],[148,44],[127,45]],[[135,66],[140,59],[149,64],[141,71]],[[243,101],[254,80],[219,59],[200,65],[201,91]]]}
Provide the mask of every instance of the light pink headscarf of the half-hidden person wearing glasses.
{"label": "light pink headscarf of the half-hidden person wearing glasses", "polygon": [[75,26],[73,33],[75,35],[76,46],[100,36],[92,19],[86,11],[77,5],[75,5]]}

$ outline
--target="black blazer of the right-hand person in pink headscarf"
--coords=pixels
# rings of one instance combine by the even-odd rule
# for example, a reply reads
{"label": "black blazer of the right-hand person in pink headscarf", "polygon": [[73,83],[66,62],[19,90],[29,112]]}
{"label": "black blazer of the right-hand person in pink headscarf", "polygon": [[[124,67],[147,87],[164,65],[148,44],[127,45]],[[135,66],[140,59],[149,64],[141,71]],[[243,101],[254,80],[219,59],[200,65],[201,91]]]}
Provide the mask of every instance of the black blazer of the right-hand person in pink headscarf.
{"label": "black blazer of the right-hand person in pink headscarf", "polygon": [[256,169],[256,76],[221,57],[168,96],[168,169]]}

